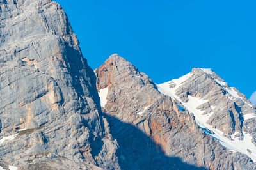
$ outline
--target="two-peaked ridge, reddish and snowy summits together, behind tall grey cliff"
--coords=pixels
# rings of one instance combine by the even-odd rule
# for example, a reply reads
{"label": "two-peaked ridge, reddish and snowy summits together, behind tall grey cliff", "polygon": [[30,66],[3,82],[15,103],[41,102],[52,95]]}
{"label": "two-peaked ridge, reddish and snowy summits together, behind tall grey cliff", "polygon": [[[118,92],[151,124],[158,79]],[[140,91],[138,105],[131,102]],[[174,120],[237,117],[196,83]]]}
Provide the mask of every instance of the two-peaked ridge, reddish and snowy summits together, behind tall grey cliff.
{"label": "two-peaked ridge, reddish and snowy summits together, behind tall grey cliff", "polygon": [[114,54],[95,74],[123,169],[256,167],[255,105],[212,70],[154,84]]}

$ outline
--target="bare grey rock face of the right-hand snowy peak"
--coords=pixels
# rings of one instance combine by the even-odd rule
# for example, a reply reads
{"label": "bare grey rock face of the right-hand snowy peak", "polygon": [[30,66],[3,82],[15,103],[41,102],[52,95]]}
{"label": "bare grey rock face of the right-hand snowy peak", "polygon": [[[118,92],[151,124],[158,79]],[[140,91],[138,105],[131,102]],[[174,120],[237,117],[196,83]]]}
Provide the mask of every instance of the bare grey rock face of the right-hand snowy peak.
{"label": "bare grey rock face of the right-hand snowy peak", "polygon": [[[229,136],[237,132],[237,135],[243,138],[242,130],[248,132],[250,128],[246,127],[256,118],[255,106],[250,104],[236,88],[230,88],[223,79],[209,69],[193,69],[191,77],[175,92],[183,102],[188,101],[187,94],[209,100],[198,109],[205,111],[205,114],[214,112],[208,123]],[[252,134],[254,137],[255,130],[252,130]]]}

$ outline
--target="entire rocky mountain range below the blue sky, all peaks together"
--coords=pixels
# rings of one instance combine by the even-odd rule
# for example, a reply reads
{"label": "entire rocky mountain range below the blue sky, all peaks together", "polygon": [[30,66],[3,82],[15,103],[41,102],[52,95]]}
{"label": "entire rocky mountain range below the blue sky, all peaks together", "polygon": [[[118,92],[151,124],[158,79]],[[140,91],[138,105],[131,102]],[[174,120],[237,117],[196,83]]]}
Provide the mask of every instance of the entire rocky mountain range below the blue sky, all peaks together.
{"label": "entire rocky mountain range below the blue sky, all peaks together", "polygon": [[0,0],[0,37],[0,169],[256,168],[255,105],[211,69],[93,72],[51,0]]}

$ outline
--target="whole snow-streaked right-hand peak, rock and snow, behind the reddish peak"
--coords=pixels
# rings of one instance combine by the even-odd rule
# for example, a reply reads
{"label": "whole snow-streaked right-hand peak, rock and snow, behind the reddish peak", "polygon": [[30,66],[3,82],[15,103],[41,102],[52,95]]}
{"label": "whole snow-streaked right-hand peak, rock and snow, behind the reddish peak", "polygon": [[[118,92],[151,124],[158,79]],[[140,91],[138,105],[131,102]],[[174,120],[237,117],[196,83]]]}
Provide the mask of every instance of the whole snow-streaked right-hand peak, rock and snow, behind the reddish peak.
{"label": "whole snow-streaked right-hand peak, rock and snow, behind the reddish peak", "polygon": [[[196,68],[179,79],[158,84],[157,88],[193,114],[206,134],[230,151],[243,153],[256,162],[255,132],[247,126],[255,121],[255,106],[211,69]],[[227,119],[231,122],[225,122]],[[219,125],[221,121],[225,123]]]}

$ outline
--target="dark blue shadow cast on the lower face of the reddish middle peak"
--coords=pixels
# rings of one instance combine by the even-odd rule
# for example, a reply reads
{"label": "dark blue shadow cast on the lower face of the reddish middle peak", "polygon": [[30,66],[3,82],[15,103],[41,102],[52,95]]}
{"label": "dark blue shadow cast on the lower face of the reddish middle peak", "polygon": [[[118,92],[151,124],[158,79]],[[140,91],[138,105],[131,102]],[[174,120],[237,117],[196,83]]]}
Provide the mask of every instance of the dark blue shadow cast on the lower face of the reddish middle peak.
{"label": "dark blue shadow cast on the lower face of the reddish middle peak", "polygon": [[205,169],[164,155],[161,146],[136,126],[108,114],[104,117],[109,122],[113,139],[118,141],[118,161],[122,169]]}

